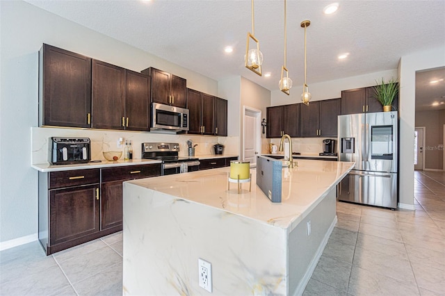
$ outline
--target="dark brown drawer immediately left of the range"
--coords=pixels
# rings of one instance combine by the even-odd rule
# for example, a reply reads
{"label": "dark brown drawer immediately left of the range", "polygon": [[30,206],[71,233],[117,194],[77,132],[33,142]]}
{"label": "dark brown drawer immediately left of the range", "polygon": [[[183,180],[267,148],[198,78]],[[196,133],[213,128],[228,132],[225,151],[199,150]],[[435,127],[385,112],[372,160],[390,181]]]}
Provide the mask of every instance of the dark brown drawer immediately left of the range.
{"label": "dark brown drawer immediately left of the range", "polygon": [[125,181],[146,178],[148,176],[161,176],[161,164],[129,165],[126,167],[110,167],[102,169],[102,182]]}

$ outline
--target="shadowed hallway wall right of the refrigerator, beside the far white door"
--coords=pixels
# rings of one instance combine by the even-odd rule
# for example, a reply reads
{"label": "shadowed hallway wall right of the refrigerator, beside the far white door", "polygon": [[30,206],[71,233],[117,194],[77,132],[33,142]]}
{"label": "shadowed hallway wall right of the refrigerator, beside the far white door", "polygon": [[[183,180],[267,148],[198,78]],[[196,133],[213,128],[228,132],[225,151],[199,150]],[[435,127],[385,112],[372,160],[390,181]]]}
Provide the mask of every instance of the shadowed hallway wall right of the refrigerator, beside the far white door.
{"label": "shadowed hallway wall right of the refrigerator, beside the far white door", "polygon": [[425,169],[443,170],[445,110],[416,112],[416,127],[425,126]]}

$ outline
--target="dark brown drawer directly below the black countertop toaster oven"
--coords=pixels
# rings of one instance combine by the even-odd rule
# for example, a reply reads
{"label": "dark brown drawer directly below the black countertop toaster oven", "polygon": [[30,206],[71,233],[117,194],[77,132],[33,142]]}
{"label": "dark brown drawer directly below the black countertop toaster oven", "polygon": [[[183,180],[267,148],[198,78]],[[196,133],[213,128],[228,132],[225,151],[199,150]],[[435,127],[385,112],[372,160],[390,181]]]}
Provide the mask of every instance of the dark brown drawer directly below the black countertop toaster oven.
{"label": "dark brown drawer directly below the black countertop toaster oven", "polygon": [[100,169],[49,173],[49,189],[99,183]]}

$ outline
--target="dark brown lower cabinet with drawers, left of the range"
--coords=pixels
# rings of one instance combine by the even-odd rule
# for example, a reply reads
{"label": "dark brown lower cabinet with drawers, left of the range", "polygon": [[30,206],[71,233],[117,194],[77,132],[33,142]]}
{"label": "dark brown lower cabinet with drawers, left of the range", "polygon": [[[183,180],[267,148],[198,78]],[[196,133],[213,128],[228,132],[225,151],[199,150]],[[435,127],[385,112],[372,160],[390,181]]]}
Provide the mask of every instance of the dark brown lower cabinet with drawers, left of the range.
{"label": "dark brown lower cabinet with drawers, left of the range", "polygon": [[122,230],[122,182],[161,164],[39,172],[38,238],[47,255]]}

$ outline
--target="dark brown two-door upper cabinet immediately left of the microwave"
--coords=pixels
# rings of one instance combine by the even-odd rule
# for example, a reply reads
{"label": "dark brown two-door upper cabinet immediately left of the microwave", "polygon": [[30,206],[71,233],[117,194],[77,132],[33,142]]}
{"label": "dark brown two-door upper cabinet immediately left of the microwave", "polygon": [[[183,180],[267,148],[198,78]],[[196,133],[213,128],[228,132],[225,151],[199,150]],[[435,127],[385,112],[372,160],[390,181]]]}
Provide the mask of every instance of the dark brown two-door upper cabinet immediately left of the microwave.
{"label": "dark brown two-door upper cabinet immediately left of the microwave", "polygon": [[149,131],[150,78],[92,60],[92,127]]}

